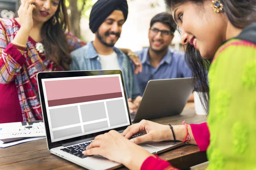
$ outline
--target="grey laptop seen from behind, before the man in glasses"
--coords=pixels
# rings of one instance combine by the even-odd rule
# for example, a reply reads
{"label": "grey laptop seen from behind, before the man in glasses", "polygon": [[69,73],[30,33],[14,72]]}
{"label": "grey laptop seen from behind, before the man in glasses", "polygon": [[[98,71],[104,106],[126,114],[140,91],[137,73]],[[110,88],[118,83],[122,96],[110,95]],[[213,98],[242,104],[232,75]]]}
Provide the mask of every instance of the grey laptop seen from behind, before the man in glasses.
{"label": "grey laptop seen from behind, before the man in glasses", "polygon": [[192,94],[193,78],[150,80],[133,122],[180,114]]}

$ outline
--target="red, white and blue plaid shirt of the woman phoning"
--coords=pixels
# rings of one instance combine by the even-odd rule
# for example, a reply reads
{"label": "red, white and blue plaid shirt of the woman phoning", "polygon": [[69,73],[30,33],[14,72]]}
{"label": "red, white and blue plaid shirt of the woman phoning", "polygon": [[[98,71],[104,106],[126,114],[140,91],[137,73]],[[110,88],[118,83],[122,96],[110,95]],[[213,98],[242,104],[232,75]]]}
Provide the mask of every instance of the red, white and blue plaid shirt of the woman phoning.
{"label": "red, white and blue plaid shirt of the woman phoning", "polygon": [[[0,84],[9,84],[15,81],[23,121],[35,121],[43,119],[36,74],[41,71],[61,71],[62,68],[56,67],[54,62],[47,59],[44,54],[40,54],[35,49],[37,42],[31,37],[26,43],[27,48],[24,54],[15,45],[12,45],[10,42],[19,28],[20,25],[15,19],[0,18]],[[70,51],[85,45],[70,33],[67,33],[67,41]],[[9,99],[11,97],[15,98],[15,95],[9,96]],[[0,103],[0,105],[3,104]]]}

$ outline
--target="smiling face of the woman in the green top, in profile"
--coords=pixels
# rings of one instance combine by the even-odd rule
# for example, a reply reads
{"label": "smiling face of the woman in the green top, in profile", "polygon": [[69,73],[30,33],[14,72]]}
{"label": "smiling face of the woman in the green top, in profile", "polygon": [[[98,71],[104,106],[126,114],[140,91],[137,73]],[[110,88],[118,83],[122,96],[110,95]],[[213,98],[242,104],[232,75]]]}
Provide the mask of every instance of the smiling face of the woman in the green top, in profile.
{"label": "smiling face of the woman in the green top, in profile", "polygon": [[172,8],[172,16],[181,28],[181,43],[193,45],[205,59],[210,59],[225,41],[227,17],[212,10],[212,1],[186,2]]}

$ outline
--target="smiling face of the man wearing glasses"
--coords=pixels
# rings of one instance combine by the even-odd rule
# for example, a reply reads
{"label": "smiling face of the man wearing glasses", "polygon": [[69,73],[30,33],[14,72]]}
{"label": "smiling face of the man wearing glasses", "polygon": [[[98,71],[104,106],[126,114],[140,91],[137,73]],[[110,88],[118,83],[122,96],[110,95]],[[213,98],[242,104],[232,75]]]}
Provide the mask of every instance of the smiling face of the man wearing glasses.
{"label": "smiling face of the man wearing glasses", "polygon": [[149,45],[154,52],[165,51],[173,37],[170,26],[160,22],[154,23],[148,31]]}

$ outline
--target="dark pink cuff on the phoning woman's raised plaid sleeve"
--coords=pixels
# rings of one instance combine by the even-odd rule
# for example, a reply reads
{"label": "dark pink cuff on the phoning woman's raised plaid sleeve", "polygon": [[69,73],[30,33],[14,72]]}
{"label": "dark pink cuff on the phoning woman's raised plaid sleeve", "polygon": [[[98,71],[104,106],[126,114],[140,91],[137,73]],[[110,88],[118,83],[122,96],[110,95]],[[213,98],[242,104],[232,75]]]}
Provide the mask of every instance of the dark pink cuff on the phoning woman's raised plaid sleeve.
{"label": "dark pink cuff on the phoning woman's raised plaid sleeve", "polygon": [[19,50],[15,47],[15,45],[12,45],[12,43],[9,43],[7,47],[5,48],[6,54],[9,54],[12,56],[12,58],[20,65],[23,66],[26,62],[25,57],[20,53]]}

